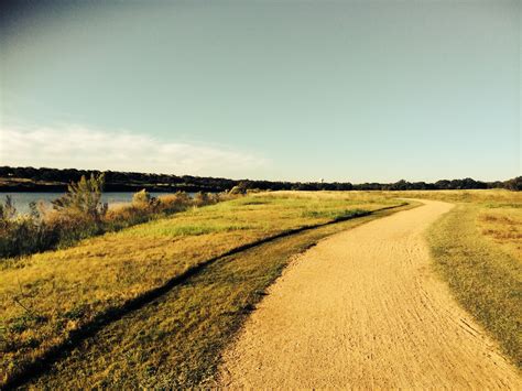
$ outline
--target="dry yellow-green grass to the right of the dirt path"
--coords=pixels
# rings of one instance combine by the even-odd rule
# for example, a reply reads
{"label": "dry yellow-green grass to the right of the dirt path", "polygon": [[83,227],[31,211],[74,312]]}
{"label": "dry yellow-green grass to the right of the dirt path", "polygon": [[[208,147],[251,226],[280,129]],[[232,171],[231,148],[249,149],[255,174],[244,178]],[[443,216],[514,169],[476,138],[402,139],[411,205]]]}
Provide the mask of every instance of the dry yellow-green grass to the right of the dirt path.
{"label": "dry yellow-green grass to the right of the dirt path", "polygon": [[427,232],[435,267],[460,304],[522,368],[522,194],[447,191],[401,196],[456,204]]}

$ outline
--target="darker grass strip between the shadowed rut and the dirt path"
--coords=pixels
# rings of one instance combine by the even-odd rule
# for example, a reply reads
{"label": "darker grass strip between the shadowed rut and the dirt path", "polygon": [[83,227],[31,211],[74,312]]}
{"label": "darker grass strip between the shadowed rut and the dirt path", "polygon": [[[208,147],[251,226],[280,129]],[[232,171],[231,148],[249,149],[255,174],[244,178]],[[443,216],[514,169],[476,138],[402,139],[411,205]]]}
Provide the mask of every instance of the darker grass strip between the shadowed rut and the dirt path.
{"label": "darker grass strip between the shadowed rut and the dirt path", "polygon": [[42,377],[32,379],[30,387],[208,385],[206,381],[215,374],[220,352],[292,256],[322,238],[396,210],[311,229],[219,259],[165,295],[84,340]]}

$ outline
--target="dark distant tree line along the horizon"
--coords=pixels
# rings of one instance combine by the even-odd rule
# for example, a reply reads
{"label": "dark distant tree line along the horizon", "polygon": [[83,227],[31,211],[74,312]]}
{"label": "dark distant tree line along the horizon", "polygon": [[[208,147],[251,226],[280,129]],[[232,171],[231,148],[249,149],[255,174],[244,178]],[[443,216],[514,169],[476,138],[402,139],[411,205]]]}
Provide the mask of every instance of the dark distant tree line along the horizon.
{"label": "dark distant tree line along the horizon", "polygon": [[[99,175],[96,170],[76,169],[34,169],[0,166],[1,191],[65,191],[72,182],[78,182],[81,176]],[[24,180],[24,181],[17,181]],[[28,181],[29,180],[29,181]],[[148,174],[135,172],[105,172],[105,189],[107,192],[127,192],[146,188],[149,192],[227,192],[235,186],[241,189],[262,191],[436,191],[436,189],[476,189],[507,188],[522,189],[522,176],[509,181],[482,182],[472,178],[442,180],[434,183],[399,181],[395,183],[362,183],[349,182],[282,182],[229,180],[222,177]]]}

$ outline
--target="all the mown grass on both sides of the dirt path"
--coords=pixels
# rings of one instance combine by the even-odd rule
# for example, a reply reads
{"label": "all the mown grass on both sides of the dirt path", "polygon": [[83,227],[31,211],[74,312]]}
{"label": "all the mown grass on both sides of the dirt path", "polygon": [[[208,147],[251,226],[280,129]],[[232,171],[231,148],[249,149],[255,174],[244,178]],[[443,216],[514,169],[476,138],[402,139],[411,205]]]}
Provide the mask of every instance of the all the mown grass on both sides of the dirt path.
{"label": "all the mown grass on both sides of the dirt path", "polygon": [[[204,384],[222,348],[293,254],[328,235],[411,207],[365,215],[401,204],[398,197],[456,204],[427,232],[435,268],[521,368],[520,193],[278,192],[1,263],[2,381],[55,351],[30,385]],[[346,217],[357,218],[262,242]],[[220,257],[249,243],[259,245]],[[209,259],[216,260],[205,264]],[[170,284],[177,276],[184,278]],[[150,296],[156,291],[161,294]]]}

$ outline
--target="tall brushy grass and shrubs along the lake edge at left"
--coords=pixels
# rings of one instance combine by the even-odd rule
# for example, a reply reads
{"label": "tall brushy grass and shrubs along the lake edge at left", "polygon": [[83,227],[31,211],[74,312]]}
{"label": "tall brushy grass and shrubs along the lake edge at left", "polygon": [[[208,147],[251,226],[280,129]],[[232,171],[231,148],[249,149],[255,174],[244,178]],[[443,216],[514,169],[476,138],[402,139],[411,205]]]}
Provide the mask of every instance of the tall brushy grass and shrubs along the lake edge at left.
{"label": "tall brushy grass and shrubs along the lake edge at left", "polygon": [[199,193],[191,198],[178,192],[154,198],[143,189],[134,194],[132,203],[109,209],[101,203],[102,184],[102,176],[81,177],[53,202],[51,209],[33,204],[25,215],[17,215],[7,196],[4,203],[0,202],[0,259],[66,248],[81,239],[232,197]]}

